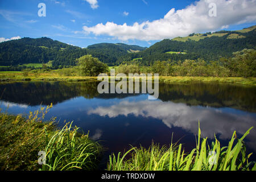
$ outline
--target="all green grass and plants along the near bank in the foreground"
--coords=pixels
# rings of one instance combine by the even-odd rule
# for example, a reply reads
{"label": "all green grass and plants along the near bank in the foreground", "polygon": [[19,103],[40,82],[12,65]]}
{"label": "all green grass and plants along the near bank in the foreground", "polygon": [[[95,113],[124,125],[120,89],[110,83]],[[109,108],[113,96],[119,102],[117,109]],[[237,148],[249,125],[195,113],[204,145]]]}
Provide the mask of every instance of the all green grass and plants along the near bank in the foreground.
{"label": "all green grass and plants along the near bank in the foreground", "polygon": [[[0,113],[0,167],[1,170],[95,170],[102,154],[102,146],[82,134],[78,127],[67,123],[61,130],[56,130],[55,118],[43,122],[48,110],[42,107],[30,112],[27,119],[22,115]],[[151,147],[133,147],[122,157],[109,156],[107,170],[128,171],[248,171],[256,170],[255,162],[249,162],[252,155],[246,155],[242,138],[237,138],[234,131],[229,145],[222,147],[215,137],[209,146],[207,138],[201,139],[201,130],[196,148],[185,153],[182,144],[171,143],[169,147],[160,147],[152,143]],[[38,164],[38,152],[46,152],[45,163]],[[127,158],[131,155],[130,158]],[[42,160],[42,162],[44,162]]]}

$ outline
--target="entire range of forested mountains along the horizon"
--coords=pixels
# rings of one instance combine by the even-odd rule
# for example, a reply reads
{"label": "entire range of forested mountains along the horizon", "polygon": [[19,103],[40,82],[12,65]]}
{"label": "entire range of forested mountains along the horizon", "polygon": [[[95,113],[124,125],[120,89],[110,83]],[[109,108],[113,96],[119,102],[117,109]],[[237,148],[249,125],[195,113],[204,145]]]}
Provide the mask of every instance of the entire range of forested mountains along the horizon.
{"label": "entire range of forested mountains along the horizon", "polygon": [[100,43],[87,48],[71,46],[49,38],[22,38],[0,43],[0,66],[48,63],[52,68],[75,65],[86,54],[109,66],[135,62],[151,65],[154,61],[204,59],[214,61],[231,57],[233,52],[256,47],[256,26],[237,31],[191,34],[172,40],[164,39],[146,48],[123,43]]}

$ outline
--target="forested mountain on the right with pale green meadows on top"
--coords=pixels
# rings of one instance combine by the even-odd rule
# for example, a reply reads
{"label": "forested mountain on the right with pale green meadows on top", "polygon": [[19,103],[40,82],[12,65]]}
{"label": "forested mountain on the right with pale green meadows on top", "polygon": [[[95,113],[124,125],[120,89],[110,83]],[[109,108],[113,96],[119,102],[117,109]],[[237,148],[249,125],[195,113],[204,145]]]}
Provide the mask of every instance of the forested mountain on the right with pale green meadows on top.
{"label": "forested mountain on the right with pale green meadows on top", "polygon": [[156,60],[185,60],[204,59],[214,61],[220,57],[231,57],[233,52],[245,48],[256,47],[256,26],[237,31],[207,32],[205,34],[191,34],[187,37],[164,39],[150,48],[133,56],[124,57],[120,61],[141,58],[142,64],[150,65]]}

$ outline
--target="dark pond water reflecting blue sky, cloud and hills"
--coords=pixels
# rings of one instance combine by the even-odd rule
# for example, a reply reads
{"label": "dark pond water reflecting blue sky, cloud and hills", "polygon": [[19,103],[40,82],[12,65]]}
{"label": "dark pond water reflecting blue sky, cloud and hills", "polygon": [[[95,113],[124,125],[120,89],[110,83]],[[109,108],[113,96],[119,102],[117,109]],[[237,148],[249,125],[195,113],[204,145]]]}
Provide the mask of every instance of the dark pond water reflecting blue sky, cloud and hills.
{"label": "dark pond water reflecting blue sky, cloud and hills", "polygon": [[[180,139],[185,151],[195,147],[198,121],[202,137],[228,144],[256,126],[256,88],[225,84],[159,84],[159,99],[147,94],[98,94],[97,82],[15,82],[0,84],[0,107],[28,114],[53,103],[47,118],[74,121],[110,152],[132,144],[161,145]],[[3,90],[5,90],[3,92]],[[210,142],[210,140],[209,140]],[[256,152],[256,128],[246,137],[247,151]],[[253,155],[255,160],[255,154]]]}

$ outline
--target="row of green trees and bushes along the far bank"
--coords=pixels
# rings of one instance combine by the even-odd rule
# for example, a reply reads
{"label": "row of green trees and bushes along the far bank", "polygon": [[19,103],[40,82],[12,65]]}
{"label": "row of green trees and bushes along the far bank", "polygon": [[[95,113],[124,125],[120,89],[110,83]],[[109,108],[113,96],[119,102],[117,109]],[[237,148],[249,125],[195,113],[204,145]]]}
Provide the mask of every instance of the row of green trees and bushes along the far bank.
{"label": "row of green trees and bushes along the far bank", "polygon": [[[73,68],[62,69],[66,76],[98,76],[108,73],[108,65],[92,55],[77,59]],[[218,61],[203,59],[185,61],[155,61],[150,66],[139,64],[121,64],[115,67],[115,73],[158,73],[160,76],[200,76],[200,77],[256,77],[256,51],[243,49],[233,53],[233,57],[222,58]]]}

